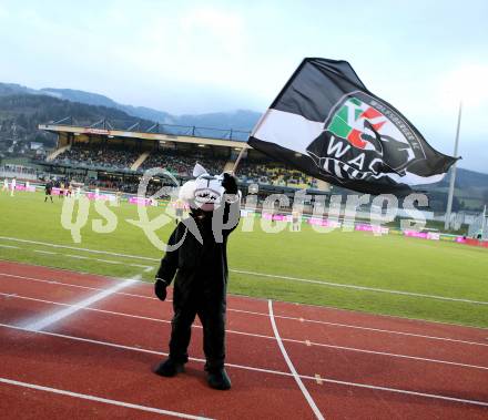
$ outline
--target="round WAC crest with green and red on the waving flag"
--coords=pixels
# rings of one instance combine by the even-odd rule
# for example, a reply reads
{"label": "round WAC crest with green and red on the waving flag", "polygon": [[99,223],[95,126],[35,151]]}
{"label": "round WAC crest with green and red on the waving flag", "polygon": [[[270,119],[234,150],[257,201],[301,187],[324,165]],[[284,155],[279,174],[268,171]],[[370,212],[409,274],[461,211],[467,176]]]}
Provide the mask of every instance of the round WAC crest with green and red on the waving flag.
{"label": "round WAC crest with green and red on the waving flag", "polygon": [[404,176],[425,154],[407,121],[380,100],[352,92],[333,106],[307,147],[321,172],[345,181]]}

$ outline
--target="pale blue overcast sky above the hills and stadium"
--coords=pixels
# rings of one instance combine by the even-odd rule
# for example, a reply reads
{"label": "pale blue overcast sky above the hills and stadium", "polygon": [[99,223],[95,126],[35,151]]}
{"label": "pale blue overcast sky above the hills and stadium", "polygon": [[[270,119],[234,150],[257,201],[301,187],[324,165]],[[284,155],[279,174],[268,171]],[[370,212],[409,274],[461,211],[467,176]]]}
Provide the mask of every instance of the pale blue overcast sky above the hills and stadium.
{"label": "pale blue overcast sky above the hills and stadium", "polygon": [[71,88],[174,114],[263,112],[304,57],[366,86],[488,173],[488,1],[0,2],[0,81]]}

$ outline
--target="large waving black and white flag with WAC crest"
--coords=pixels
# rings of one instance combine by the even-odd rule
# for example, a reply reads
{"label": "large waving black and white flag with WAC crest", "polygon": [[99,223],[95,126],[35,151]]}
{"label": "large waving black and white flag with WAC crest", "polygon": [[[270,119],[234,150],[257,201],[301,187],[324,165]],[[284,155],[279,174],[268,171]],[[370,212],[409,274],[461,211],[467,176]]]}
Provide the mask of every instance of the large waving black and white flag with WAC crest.
{"label": "large waving black and white flag with WAC crest", "polygon": [[434,150],[395,107],[370,93],[346,61],[305,59],[248,144],[331,184],[407,194],[440,181],[455,157]]}

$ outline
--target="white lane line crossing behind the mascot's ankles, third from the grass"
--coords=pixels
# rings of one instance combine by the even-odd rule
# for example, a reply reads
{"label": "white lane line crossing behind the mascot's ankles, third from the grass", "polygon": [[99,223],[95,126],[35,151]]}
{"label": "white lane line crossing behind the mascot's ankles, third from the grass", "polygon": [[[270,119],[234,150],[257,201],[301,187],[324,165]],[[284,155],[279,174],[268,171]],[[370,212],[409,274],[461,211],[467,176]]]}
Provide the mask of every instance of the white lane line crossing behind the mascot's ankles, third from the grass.
{"label": "white lane line crossing behind the mascot's ankles, third from the grass", "polygon": [[[89,339],[89,338],[74,337],[74,336],[65,336],[65,335],[62,335],[62,334],[49,332],[49,331],[30,331],[30,330],[28,330],[26,328],[17,327],[17,326],[9,325],[9,324],[0,324],[0,327],[13,329],[13,330],[19,330],[19,331],[24,331],[24,332],[39,334],[39,335],[42,335],[42,336],[58,337],[58,338],[73,340],[73,341],[89,342],[89,344],[93,344],[93,345],[112,347],[112,348],[122,349],[122,350],[139,351],[139,352],[144,352],[144,354],[150,354],[150,355],[156,355],[156,356],[167,356],[166,352],[143,349],[141,347],[123,346],[123,345],[118,345],[118,344],[114,344],[114,342],[99,341],[99,340],[92,340],[92,339]],[[201,362],[201,363],[205,363],[204,359],[199,359],[199,358],[194,358],[194,357],[191,357],[190,360],[197,361],[197,362]],[[252,367],[252,366],[243,366],[243,365],[235,365],[235,363],[225,363],[225,366],[227,366],[230,368],[245,369],[245,370],[251,370],[251,371],[256,371],[256,372],[262,372],[262,373],[271,373],[271,375],[285,376],[285,377],[293,377],[292,373],[283,372],[283,371],[279,371],[279,370],[255,368],[255,367]],[[312,376],[299,375],[299,377],[302,379],[316,381],[316,378],[312,377]],[[324,382],[343,385],[343,386],[348,386],[348,387],[373,389],[373,390],[395,392],[395,393],[401,393],[401,395],[409,395],[409,396],[421,397],[421,398],[431,398],[431,399],[439,399],[439,400],[451,401],[451,402],[462,402],[462,403],[468,403],[468,404],[474,404],[474,406],[488,407],[488,401],[485,402],[485,401],[478,401],[478,400],[468,400],[468,399],[461,399],[461,398],[456,398],[456,397],[440,396],[440,395],[436,395],[436,393],[425,393],[425,392],[409,391],[409,390],[398,389],[398,388],[388,388],[388,387],[379,387],[379,386],[367,385],[367,383],[348,382],[348,381],[342,381],[342,380],[337,380],[337,379],[327,379],[324,376],[321,376],[321,378],[322,378],[322,380]]]}

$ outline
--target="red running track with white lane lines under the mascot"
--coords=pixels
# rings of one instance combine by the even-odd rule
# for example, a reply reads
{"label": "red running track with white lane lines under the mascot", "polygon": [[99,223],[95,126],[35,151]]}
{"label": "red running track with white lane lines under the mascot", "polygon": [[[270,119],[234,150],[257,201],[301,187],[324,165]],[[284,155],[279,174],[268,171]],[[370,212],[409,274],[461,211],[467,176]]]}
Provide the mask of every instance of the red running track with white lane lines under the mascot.
{"label": "red running track with white lane lines under the mascot", "polygon": [[153,375],[171,303],[140,281],[92,301],[114,286],[0,262],[1,418],[488,418],[487,329],[230,296],[221,392],[205,383],[199,325],[186,373]]}

